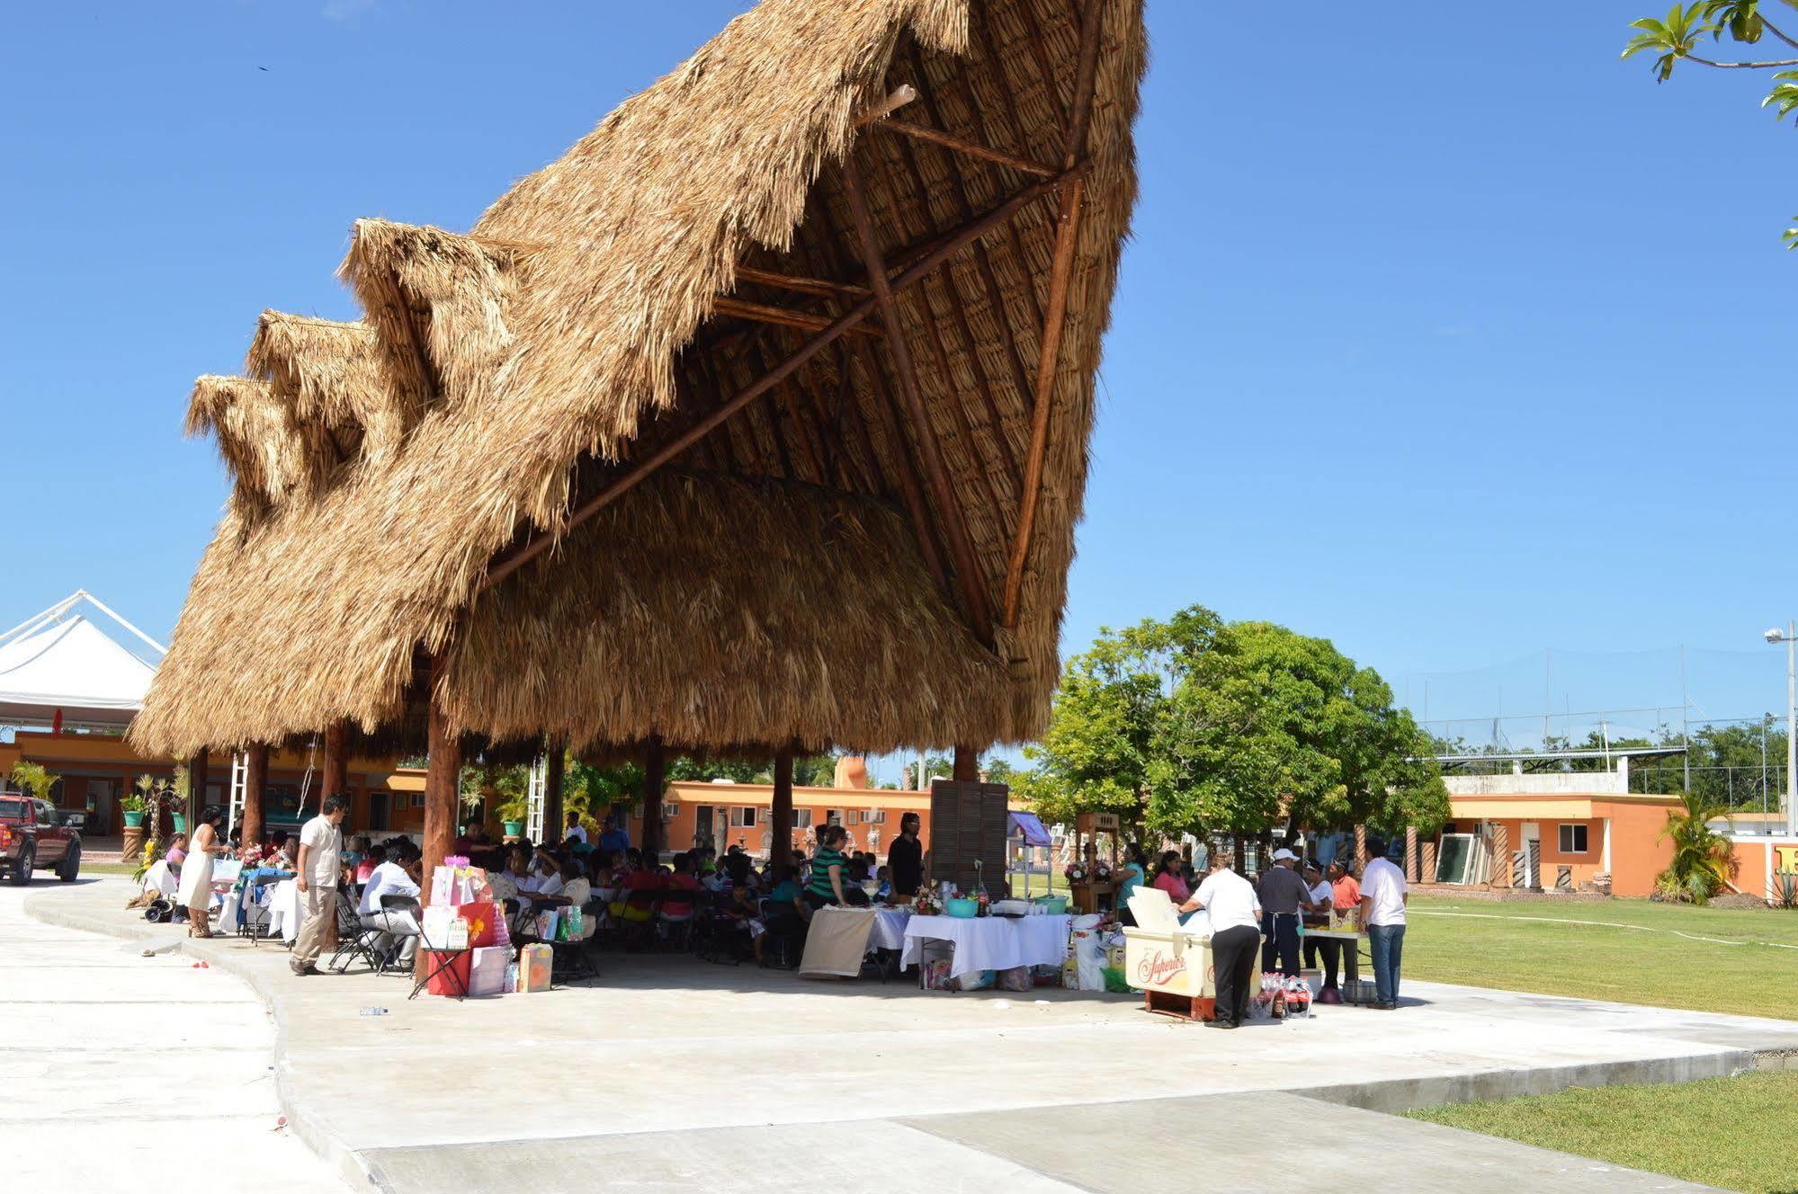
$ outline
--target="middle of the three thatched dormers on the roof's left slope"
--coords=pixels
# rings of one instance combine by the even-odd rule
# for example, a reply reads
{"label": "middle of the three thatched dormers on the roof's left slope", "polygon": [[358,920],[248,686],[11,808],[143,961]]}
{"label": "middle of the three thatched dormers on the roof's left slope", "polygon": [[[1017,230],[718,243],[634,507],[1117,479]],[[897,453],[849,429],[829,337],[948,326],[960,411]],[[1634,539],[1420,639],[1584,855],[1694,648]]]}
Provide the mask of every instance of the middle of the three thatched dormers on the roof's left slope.
{"label": "middle of the three thatched dormers on the roof's left slope", "polygon": [[383,466],[399,450],[405,412],[367,324],[263,311],[245,372],[288,405],[327,477],[360,457]]}

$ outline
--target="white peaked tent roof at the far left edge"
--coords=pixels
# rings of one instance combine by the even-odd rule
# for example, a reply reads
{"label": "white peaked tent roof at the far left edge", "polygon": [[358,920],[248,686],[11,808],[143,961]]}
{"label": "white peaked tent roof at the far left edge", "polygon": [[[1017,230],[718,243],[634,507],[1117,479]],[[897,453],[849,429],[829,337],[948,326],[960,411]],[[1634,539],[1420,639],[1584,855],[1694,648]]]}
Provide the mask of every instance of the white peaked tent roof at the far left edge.
{"label": "white peaked tent roof at the far left edge", "polygon": [[144,705],[158,658],[120,646],[92,619],[74,613],[79,601],[93,599],[77,592],[0,637],[0,723],[49,725],[61,710],[65,725],[122,726]]}

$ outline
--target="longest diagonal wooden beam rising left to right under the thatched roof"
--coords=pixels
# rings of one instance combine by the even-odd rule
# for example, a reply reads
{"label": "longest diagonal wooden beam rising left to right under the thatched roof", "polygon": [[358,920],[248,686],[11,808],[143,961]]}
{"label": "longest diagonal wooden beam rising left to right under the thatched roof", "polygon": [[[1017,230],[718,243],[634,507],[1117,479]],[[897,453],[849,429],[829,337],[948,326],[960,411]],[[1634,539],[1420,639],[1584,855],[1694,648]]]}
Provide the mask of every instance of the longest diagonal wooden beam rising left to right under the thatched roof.
{"label": "longest diagonal wooden beam rising left to right under the thatched roof", "polygon": [[[960,252],[969,243],[980,239],[992,228],[1003,225],[1019,209],[1027,207],[1028,203],[1034,203],[1045,194],[1052,194],[1066,185],[1072,185],[1082,174],[1084,167],[1075,165],[1073,169],[1063,171],[1054,178],[1045,178],[1043,182],[1032,183],[1018,191],[1009,200],[998,203],[996,207],[991,207],[978,218],[964,223],[960,228],[946,232],[944,236],[933,241],[933,246],[928,252],[924,252],[915,263],[912,263],[897,277],[894,277],[892,282],[885,282],[883,277],[885,290],[899,291],[912,286],[921,277],[935,270],[942,261],[948,261],[953,254]],[[859,300],[856,306],[849,307],[843,315],[834,318],[829,327],[806,340],[806,343],[797,352],[793,352],[784,361],[775,365],[771,372],[762,374],[761,378],[746,385],[743,390],[737,390],[737,394],[734,394],[728,401],[719,403],[717,408],[712,410],[712,414],[708,414],[705,419],[698,421],[680,435],[669,439],[658,448],[647,451],[644,457],[633,460],[628,469],[615,475],[604,487],[599,489],[599,493],[579,502],[572,511],[568,511],[566,527],[570,530],[574,527],[579,527],[588,518],[602,511],[606,505],[617,502],[620,496],[635,489],[645,477],[654,473],[658,468],[672,460],[685,450],[692,448],[692,444],[696,444],[708,432],[712,432],[726,419],[730,419],[730,415],[737,414],[739,410],[753,403],[757,397],[766,394],[771,387],[779,385],[788,374],[797,370],[813,356],[816,356],[829,345],[841,340],[850,327],[854,327],[868,315],[872,315],[876,306],[877,298],[872,295]],[[548,547],[554,541],[556,536],[536,532],[530,534],[525,541],[518,543],[516,547],[502,550],[500,554],[494,556],[493,563],[487,566],[487,574],[482,579],[480,588],[484,590],[493,588],[494,584],[509,577],[512,572],[521,568],[525,563],[536,559],[545,550],[548,550]]]}

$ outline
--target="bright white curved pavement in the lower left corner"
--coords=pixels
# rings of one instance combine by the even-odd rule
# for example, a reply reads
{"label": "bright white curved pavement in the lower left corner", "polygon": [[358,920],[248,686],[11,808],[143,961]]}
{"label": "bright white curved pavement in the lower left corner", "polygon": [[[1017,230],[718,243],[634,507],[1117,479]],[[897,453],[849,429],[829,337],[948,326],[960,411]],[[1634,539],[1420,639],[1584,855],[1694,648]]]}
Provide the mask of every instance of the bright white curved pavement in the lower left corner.
{"label": "bright white curved pavement in the lower left corner", "polygon": [[[279,1127],[275,1032],[248,985],[31,919],[25,897],[43,888],[0,887],[5,1189],[165,1187],[196,1160],[219,1190],[347,1189]],[[119,910],[126,888],[104,890]]]}

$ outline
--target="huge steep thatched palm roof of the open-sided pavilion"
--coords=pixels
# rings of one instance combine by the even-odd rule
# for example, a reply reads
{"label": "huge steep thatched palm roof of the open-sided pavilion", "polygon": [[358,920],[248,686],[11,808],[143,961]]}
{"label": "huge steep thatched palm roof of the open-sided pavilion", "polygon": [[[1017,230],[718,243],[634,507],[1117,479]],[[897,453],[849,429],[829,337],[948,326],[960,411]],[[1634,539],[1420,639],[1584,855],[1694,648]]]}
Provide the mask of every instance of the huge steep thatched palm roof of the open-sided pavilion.
{"label": "huge steep thatched palm roof of the open-sided pavilion", "polygon": [[[1005,586],[1052,196],[895,297],[951,498],[906,496],[919,428],[877,338],[811,358],[681,451],[678,473],[563,532],[577,495],[628,477],[791,354],[804,320],[867,293],[845,153],[890,268],[1034,182],[856,113],[912,85],[915,122],[1063,164],[1077,9],[764,0],[469,236],[358,223],[343,273],[415,423],[388,468],[282,509],[218,575],[201,568],[135,737],[182,752],[343,716],[374,728],[406,708],[419,651],[446,658],[451,719],[496,737],[890,750],[1037,734],[1135,201],[1140,0],[1100,5],[1086,205],[1012,628],[980,642],[926,556],[942,554],[948,500],[975,583]],[[795,298],[771,275],[825,284]],[[739,316],[746,304],[800,311],[800,327]],[[563,534],[554,550],[485,588],[498,552],[545,532]]]}

